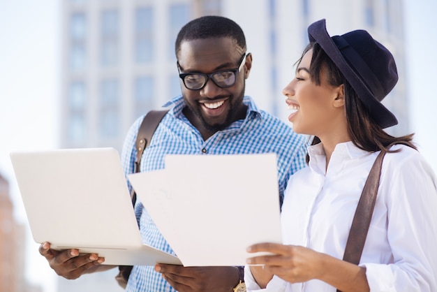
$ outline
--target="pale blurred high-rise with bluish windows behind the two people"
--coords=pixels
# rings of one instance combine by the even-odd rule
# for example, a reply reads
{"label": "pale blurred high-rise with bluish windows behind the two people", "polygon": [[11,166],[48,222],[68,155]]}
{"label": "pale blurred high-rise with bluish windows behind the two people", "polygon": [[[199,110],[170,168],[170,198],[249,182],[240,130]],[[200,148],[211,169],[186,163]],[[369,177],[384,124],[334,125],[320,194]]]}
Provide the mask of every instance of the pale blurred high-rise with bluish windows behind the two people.
{"label": "pale blurred high-rise with bluish windows behind the two people", "polygon": [[[399,0],[64,0],[62,10],[61,147],[121,149],[133,121],[180,94],[174,43],[188,20],[223,15],[241,25],[253,54],[246,94],[287,121],[281,92],[308,43],[306,28],[327,19],[329,34],[366,29],[394,52],[399,83],[385,98],[408,133],[406,55]],[[113,281],[114,271],[108,275]],[[92,286],[74,291],[112,291]],[[103,275],[96,283],[107,285]],[[59,292],[68,285],[61,280]],[[89,289],[87,290],[87,288]],[[114,290],[117,284],[114,282]]]}

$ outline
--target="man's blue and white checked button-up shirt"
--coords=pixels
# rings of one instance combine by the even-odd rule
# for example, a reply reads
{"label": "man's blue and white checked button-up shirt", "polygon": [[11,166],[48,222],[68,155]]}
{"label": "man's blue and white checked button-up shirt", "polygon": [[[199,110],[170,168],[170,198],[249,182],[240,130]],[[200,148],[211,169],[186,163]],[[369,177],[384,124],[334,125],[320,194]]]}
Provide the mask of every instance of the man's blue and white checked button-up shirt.
{"label": "man's blue and white checked button-up shirt", "polygon": [[[182,113],[185,107],[182,96],[177,96],[164,106],[174,105],[156,129],[149,147],[141,160],[141,171],[164,168],[166,154],[252,154],[276,153],[278,159],[279,195],[281,201],[288,178],[305,166],[304,136],[297,135],[290,126],[278,118],[256,108],[249,96],[246,118],[238,120],[223,131],[218,131],[206,141],[199,131],[188,122]],[[121,152],[125,175],[133,173],[135,140],[143,117],[138,118],[128,131]],[[250,182],[248,182],[250,183]],[[140,202],[135,205],[135,215],[140,225],[142,241],[170,254],[175,254]],[[126,291],[156,292],[175,291],[170,284],[155,272],[153,266],[135,266],[129,277]]]}

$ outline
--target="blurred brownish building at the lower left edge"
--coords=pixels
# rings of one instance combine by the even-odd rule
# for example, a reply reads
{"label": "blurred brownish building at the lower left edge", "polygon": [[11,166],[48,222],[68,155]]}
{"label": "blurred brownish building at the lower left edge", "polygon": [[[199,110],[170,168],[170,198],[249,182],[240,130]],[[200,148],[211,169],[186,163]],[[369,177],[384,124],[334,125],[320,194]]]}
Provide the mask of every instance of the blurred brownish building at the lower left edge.
{"label": "blurred brownish building at the lower left edge", "polygon": [[9,184],[0,175],[0,292],[40,292],[24,279],[24,226],[13,217]]}

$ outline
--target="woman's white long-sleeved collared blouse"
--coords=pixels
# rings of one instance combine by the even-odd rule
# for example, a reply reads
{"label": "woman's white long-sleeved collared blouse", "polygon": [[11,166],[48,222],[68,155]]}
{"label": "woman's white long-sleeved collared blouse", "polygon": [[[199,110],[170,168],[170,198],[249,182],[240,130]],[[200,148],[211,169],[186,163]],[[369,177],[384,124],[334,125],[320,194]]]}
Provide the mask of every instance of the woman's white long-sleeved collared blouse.
{"label": "woman's white long-sleeved collared blouse", "polygon": [[[404,145],[387,153],[360,266],[370,291],[437,291],[437,180],[423,156]],[[290,177],[282,207],[283,243],[343,258],[353,215],[379,152],[336,145],[325,171],[322,145],[309,167]],[[266,289],[245,270],[248,291],[335,292],[319,280],[290,284],[274,276]]]}

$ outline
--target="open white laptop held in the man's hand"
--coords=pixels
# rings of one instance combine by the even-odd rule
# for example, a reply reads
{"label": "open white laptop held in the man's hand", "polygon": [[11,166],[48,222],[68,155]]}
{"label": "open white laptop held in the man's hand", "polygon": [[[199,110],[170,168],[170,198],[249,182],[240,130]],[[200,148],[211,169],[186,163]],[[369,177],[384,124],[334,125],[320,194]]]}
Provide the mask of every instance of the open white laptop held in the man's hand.
{"label": "open white laptop held in the man's hand", "polygon": [[116,149],[13,152],[10,159],[36,242],[96,253],[107,265],[182,264],[142,244]]}

